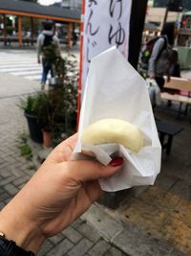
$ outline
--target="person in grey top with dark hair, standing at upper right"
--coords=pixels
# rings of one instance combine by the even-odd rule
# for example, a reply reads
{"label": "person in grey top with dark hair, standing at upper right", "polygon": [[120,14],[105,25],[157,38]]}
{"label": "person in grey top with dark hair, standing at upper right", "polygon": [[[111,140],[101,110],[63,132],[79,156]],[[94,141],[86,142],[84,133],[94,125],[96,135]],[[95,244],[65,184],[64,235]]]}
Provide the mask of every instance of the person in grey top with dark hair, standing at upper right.
{"label": "person in grey top with dark hair, standing at upper right", "polygon": [[153,47],[148,66],[148,76],[157,81],[160,90],[164,85],[163,76],[167,76],[168,81],[170,80],[171,51],[176,36],[175,23],[165,23],[161,35]]}

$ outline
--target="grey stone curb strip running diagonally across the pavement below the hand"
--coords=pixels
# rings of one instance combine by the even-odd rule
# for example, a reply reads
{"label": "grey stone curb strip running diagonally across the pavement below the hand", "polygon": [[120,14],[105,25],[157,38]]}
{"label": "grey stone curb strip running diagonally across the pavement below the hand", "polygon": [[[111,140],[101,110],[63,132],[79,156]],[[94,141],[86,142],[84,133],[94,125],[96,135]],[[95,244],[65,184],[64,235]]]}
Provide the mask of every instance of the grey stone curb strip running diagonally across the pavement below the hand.
{"label": "grey stone curb strip running diagonally across the pavement below the hand", "polygon": [[122,220],[118,213],[107,213],[103,206],[94,203],[81,217],[96,228],[99,235],[129,256],[185,256],[173,246],[159,241],[133,223]]}

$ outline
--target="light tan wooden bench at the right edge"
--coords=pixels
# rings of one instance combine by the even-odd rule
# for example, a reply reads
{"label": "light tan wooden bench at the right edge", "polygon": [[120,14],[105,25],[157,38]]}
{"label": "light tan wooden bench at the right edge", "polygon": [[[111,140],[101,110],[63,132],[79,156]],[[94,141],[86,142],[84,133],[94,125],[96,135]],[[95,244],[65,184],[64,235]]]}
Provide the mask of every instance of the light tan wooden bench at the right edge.
{"label": "light tan wooden bench at the right edge", "polygon": [[[185,105],[184,115],[187,113],[188,106],[191,105],[191,80],[174,78],[168,82],[165,78],[164,89],[170,89],[172,93],[162,92],[161,100],[176,102],[180,104],[178,117],[182,113],[182,105]],[[175,91],[175,94],[173,93]],[[183,91],[186,95],[180,95],[177,93],[177,90]]]}

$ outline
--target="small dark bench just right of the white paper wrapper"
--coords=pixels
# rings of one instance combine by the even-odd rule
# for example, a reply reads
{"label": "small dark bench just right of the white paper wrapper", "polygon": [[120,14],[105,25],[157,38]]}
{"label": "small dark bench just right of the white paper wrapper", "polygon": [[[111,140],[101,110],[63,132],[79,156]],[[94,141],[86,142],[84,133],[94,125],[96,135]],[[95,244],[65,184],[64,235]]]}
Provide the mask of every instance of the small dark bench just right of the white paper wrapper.
{"label": "small dark bench just right of the white paper wrapper", "polygon": [[166,150],[166,154],[169,155],[172,148],[174,136],[180,133],[183,128],[175,124],[163,122],[160,120],[156,120],[156,126],[159,132],[159,141],[161,144],[161,148],[162,150]]}

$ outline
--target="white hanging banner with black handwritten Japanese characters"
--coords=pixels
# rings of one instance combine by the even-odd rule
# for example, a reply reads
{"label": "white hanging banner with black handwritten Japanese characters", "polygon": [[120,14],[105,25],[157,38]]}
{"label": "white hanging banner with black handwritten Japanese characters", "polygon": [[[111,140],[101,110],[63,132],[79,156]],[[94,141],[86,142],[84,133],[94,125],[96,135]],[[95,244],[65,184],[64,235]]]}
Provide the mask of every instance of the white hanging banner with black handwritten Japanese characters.
{"label": "white hanging banner with black handwritten Japanese characters", "polygon": [[86,0],[82,54],[82,91],[91,59],[117,46],[128,58],[132,0]]}

